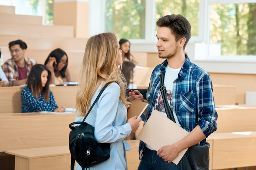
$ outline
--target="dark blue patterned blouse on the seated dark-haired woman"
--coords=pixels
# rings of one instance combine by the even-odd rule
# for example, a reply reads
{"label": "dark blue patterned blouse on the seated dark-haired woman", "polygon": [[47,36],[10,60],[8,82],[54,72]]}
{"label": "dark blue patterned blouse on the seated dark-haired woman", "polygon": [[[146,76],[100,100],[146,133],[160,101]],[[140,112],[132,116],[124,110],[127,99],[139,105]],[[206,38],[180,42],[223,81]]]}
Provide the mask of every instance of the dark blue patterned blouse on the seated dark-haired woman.
{"label": "dark blue patterned blouse on the seated dark-haired woman", "polygon": [[43,94],[40,94],[40,97],[36,99],[28,87],[22,89],[21,95],[21,112],[38,112],[38,111],[54,111],[58,108],[56,105],[52,91],[49,94],[49,102],[43,98]]}

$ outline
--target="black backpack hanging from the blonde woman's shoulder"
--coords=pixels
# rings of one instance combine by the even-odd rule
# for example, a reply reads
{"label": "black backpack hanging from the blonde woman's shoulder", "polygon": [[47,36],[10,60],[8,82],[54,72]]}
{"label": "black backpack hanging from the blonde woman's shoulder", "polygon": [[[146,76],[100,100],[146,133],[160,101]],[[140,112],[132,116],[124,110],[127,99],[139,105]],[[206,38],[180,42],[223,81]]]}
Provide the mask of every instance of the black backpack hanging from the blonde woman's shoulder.
{"label": "black backpack hanging from the blonde woman's shoulder", "polygon": [[[110,144],[99,143],[94,138],[94,127],[84,122],[93,106],[103,93],[104,89],[112,82],[107,83],[99,92],[99,95],[93,102],[83,122],[73,122],[70,126],[69,147],[71,153],[70,169],[74,170],[75,160],[79,165],[85,169],[95,166],[110,157]],[[72,126],[80,124],[79,126]]]}

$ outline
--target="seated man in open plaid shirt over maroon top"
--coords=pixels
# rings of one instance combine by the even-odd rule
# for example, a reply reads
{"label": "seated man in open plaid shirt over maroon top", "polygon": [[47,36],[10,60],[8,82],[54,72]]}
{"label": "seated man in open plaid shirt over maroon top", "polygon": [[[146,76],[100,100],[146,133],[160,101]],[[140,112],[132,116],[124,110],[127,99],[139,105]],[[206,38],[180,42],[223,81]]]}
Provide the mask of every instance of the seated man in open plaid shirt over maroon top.
{"label": "seated man in open plaid shirt over maroon top", "polygon": [[5,61],[3,71],[9,80],[9,86],[25,85],[27,76],[36,61],[25,57],[27,44],[18,39],[9,42],[11,59]]}

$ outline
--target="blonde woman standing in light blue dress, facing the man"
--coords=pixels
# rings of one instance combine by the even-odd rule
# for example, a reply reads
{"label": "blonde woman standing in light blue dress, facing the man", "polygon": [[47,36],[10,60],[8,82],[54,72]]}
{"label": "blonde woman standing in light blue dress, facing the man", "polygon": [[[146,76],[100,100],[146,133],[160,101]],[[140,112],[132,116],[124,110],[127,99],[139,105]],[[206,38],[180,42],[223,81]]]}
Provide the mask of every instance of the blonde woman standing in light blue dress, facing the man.
{"label": "blonde woman standing in light blue dress, facing the man", "polygon": [[[80,72],[76,94],[76,118],[82,121],[101,88],[108,82],[103,94],[85,119],[94,126],[94,137],[100,143],[110,143],[110,158],[90,170],[127,170],[126,150],[130,148],[124,140],[134,133],[141,118],[130,118],[126,123],[129,104],[125,96],[126,83],[118,65],[121,65],[121,51],[113,33],[101,33],[88,39]],[[86,152],[86,150],[84,151]],[[76,170],[81,166],[76,163]]]}

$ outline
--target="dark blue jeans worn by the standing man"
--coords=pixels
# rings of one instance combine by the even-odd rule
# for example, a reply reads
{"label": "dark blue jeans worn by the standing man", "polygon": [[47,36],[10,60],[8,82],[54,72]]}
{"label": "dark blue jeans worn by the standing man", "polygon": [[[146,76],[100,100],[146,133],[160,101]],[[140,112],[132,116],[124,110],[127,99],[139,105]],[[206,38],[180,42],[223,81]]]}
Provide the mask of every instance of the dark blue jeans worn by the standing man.
{"label": "dark blue jeans worn by the standing man", "polygon": [[157,151],[146,147],[138,170],[180,170],[180,164],[168,163],[157,155]]}

